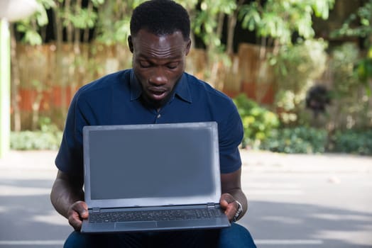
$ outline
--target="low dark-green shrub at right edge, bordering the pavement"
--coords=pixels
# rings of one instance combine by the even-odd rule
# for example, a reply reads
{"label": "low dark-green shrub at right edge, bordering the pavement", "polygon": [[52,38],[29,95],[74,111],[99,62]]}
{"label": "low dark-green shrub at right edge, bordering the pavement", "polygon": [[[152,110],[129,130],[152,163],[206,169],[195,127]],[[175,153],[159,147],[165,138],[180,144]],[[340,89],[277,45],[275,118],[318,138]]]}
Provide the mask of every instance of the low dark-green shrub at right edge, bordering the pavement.
{"label": "low dark-green shrub at right edge, bordering the pavement", "polygon": [[332,136],[333,152],[372,155],[372,130],[337,131]]}

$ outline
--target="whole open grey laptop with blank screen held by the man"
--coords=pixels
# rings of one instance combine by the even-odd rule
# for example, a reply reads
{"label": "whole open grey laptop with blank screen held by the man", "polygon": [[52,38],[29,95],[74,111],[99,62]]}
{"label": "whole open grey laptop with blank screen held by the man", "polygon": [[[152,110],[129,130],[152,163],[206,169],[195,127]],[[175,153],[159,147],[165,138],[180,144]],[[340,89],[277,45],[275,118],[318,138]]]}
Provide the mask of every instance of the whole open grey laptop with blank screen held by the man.
{"label": "whole open grey laptop with blank screen held by the man", "polygon": [[229,227],[219,206],[217,123],[83,128],[81,232]]}

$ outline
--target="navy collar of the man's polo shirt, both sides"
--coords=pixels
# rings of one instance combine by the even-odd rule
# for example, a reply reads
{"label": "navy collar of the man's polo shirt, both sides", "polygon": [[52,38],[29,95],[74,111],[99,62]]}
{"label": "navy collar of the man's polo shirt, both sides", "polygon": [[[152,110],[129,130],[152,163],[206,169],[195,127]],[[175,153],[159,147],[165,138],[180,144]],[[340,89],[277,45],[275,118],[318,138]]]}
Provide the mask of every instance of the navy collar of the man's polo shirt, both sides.
{"label": "navy collar of the man's polo shirt, both sides", "polygon": [[[141,96],[142,88],[138,82],[136,75],[133,72],[133,69],[131,70],[131,77],[130,77],[129,84],[131,85],[131,101],[135,101]],[[177,85],[175,86],[175,92],[173,96],[170,98],[170,101],[173,101],[175,96],[178,96],[183,101],[192,103],[192,97],[190,94],[189,85],[187,84],[187,74],[185,72],[182,74],[180,81],[178,81]]]}

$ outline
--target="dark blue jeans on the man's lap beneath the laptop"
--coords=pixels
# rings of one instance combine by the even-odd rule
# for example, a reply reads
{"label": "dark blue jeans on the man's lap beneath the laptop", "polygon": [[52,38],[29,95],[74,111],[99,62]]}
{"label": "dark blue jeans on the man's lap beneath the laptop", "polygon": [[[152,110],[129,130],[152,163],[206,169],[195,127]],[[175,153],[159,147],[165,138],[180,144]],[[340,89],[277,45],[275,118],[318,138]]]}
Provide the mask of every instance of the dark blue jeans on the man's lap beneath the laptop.
{"label": "dark blue jeans on the man's lap beneath the laptop", "polygon": [[177,232],[136,232],[87,235],[72,232],[65,248],[75,247],[227,247],[254,248],[251,234],[245,227],[232,223],[221,230],[192,230]]}

